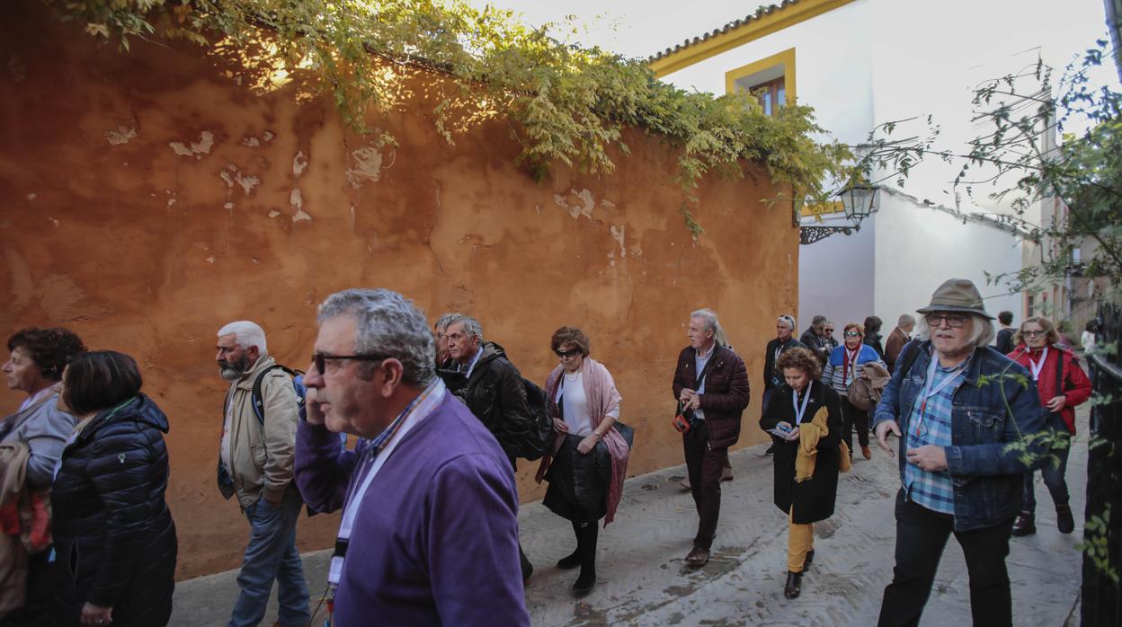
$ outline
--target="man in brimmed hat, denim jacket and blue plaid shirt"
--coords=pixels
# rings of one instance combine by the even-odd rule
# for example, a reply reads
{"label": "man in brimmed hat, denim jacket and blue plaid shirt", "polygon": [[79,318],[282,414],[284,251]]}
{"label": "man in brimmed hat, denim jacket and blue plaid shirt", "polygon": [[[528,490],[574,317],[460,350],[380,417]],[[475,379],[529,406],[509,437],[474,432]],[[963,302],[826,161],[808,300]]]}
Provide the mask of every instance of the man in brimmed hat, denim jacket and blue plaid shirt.
{"label": "man in brimmed hat, denim jacket and blue plaid shirt", "polygon": [[918,625],[939,559],[954,534],[969,575],[974,625],[1012,625],[1009,538],[1024,473],[1045,463],[1045,414],[1029,372],[987,347],[993,316],[967,279],[939,286],[918,310],[920,342],[909,344],[880,405],[874,430],[890,455],[900,437],[896,550],[880,625]]}

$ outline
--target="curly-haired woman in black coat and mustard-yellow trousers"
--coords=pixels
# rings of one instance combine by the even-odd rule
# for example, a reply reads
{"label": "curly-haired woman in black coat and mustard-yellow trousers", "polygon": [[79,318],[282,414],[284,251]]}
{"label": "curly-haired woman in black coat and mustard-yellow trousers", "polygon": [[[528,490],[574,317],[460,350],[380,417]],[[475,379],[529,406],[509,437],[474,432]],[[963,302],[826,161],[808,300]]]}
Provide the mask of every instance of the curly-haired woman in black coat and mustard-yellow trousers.
{"label": "curly-haired woman in black coat and mustard-yellow trousers", "polygon": [[842,442],[840,398],[818,380],[818,358],[793,348],[780,356],[778,366],[784,382],[764,407],[760,428],[774,442],[775,507],[790,522],[783,594],[794,599],[815,559],[815,523],[834,515],[839,465],[847,464],[848,457]]}

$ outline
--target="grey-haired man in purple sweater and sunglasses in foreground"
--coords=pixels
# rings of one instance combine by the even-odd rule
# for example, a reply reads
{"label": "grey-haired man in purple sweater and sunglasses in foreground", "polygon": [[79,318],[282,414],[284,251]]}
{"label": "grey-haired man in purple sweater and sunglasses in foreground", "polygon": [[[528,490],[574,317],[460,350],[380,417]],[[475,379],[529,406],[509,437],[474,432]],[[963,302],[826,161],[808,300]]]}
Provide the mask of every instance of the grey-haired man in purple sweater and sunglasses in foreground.
{"label": "grey-haired man in purple sweater and sunglasses in foreground", "polygon": [[[295,472],[309,506],[343,510],[332,624],[528,626],[514,472],[436,378],[424,314],[347,289],[318,322]],[[339,432],[360,437],[355,451]]]}

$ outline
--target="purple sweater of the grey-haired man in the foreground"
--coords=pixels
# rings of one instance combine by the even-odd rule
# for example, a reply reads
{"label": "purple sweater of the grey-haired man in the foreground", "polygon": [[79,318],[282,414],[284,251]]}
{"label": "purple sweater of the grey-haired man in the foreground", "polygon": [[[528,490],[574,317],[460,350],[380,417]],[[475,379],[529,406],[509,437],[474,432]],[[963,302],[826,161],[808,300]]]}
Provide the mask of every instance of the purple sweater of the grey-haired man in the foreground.
{"label": "purple sweater of the grey-haired man in the foreground", "polygon": [[[296,485],[342,508],[356,462],[325,427],[300,423]],[[404,435],[360,505],[335,625],[528,626],[518,494],[498,442],[451,394]]]}

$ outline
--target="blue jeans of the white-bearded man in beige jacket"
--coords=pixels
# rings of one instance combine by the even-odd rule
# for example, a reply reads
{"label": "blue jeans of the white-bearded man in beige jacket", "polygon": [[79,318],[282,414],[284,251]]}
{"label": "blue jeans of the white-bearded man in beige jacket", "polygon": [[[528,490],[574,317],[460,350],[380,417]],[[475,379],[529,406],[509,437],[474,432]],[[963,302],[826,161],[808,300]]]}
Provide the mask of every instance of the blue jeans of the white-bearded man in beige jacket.
{"label": "blue jeans of the white-bearded man in beige jacket", "polygon": [[274,579],[278,588],[280,608],[277,620],[280,625],[307,625],[312,619],[307,608],[304,566],[296,551],[296,519],[302,505],[300,494],[289,490],[279,509],[264,498],[246,508],[249,544],[238,573],[241,593],[233,605],[227,627],[256,627],[265,618]]}

